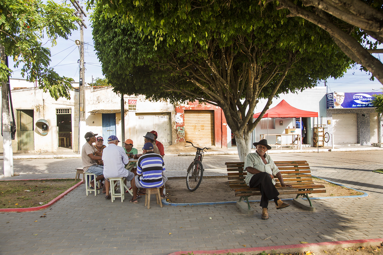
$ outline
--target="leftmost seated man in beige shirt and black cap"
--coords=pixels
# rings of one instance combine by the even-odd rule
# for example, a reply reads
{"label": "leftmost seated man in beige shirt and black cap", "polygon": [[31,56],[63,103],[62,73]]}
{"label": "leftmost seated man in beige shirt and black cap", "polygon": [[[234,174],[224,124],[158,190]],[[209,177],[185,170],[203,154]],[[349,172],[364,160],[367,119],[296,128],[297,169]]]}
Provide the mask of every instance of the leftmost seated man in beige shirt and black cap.
{"label": "leftmost seated man in beige shirt and black cap", "polygon": [[[87,141],[81,150],[81,158],[82,158],[82,168],[84,172],[96,174],[96,181],[104,179],[103,171],[104,166],[100,166],[97,164],[97,160],[101,160],[102,153],[98,152],[97,149],[92,145],[96,141],[96,135],[93,132],[87,132],[85,134],[85,140]],[[84,180],[87,181],[87,180]],[[93,184],[94,185],[94,184]],[[90,182],[90,187],[92,186],[92,182]],[[94,187],[93,187],[94,188]]]}

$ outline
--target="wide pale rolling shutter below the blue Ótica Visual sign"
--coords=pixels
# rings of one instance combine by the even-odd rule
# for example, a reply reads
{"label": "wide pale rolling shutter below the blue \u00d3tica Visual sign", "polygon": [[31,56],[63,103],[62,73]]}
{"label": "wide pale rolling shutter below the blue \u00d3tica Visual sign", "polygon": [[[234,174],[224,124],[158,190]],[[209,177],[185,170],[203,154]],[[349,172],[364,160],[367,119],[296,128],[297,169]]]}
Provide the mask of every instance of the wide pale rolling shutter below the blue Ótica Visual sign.
{"label": "wide pale rolling shutter below the blue \u00d3tica Visual sign", "polygon": [[358,143],[357,115],[332,114],[334,143]]}

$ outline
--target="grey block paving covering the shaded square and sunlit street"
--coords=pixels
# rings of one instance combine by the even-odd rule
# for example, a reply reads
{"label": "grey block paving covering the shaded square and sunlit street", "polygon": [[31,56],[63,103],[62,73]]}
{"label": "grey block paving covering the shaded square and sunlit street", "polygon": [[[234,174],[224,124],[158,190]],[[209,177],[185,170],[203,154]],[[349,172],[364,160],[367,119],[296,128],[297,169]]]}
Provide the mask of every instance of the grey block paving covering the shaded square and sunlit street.
{"label": "grey block paving covering the shaded square and sunlit street", "polygon": [[[232,158],[231,158],[232,157]],[[272,155],[274,160],[289,160]],[[105,201],[103,195],[85,196],[84,185],[45,210],[28,213],[2,213],[0,254],[154,254],[183,250],[216,250],[383,238],[383,175],[371,172],[383,168],[381,152],[366,154],[290,155],[308,159],[313,175],[357,188],[364,198],[313,200],[316,212],[291,205],[276,210],[270,203],[267,221],[260,219],[261,208],[252,207],[254,216],[239,213],[234,204],[214,206],[164,206],[151,200],[151,208]],[[167,159],[167,158],[165,158]],[[193,157],[169,158],[168,176],[185,171]],[[167,159],[168,160],[168,159]],[[220,173],[225,161],[237,156],[206,156],[206,172]],[[359,164],[357,164],[359,162]],[[15,161],[17,171],[28,176],[74,175],[75,159],[33,159]],[[15,170],[16,171],[16,170]],[[39,174],[33,174],[33,171]],[[3,178],[6,180],[9,178]],[[16,178],[15,178],[16,179]],[[46,218],[40,218],[43,213]],[[210,219],[211,218],[211,219]],[[37,222],[35,222],[37,221]]]}

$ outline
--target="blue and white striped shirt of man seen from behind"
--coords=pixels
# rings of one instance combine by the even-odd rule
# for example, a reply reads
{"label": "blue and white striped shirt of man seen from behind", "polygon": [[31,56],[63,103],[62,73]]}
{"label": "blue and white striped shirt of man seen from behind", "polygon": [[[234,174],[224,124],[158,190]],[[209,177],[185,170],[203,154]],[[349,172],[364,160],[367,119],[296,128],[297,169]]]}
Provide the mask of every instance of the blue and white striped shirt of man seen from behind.
{"label": "blue and white striped shirt of man seen from behind", "polygon": [[161,155],[148,151],[139,157],[137,162],[137,174],[139,183],[144,188],[158,188],[164,185],[162,172],[165,172],[165,163]]}

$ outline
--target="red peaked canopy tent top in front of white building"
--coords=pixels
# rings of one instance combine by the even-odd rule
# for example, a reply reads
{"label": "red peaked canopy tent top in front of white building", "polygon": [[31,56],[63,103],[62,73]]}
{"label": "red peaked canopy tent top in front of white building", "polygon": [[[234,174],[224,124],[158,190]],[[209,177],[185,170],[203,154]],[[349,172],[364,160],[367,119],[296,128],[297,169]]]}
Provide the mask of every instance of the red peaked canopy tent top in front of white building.
{"label": "red peaked canopy tent top in front of white building", "polygon": [[[253,115],[258,118],[261,113]],[[290,106],[285,100],[282,100],[277,106],[268,109],[262,118],[298,118],[298,117],[318,117],[318,112],[300,110]]]}

